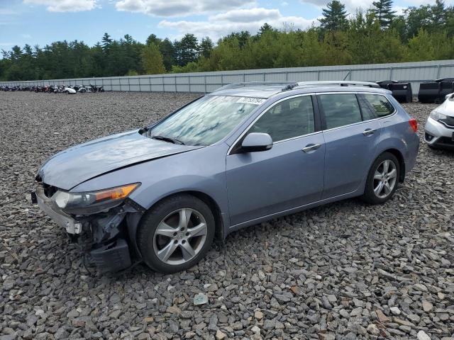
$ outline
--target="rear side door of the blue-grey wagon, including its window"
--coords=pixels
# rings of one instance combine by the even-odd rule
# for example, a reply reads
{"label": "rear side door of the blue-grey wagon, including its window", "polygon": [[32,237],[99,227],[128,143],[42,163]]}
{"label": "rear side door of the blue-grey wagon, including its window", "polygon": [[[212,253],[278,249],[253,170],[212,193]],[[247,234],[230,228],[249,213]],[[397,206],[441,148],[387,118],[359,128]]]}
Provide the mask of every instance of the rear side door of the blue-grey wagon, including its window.
{"label": "rear side door of the blue-grey wagon, including its window", "polygon": [[375,157],[381,125],[356,94],[319,94],[317,99],[326,145],[325,199],[358,188]]}

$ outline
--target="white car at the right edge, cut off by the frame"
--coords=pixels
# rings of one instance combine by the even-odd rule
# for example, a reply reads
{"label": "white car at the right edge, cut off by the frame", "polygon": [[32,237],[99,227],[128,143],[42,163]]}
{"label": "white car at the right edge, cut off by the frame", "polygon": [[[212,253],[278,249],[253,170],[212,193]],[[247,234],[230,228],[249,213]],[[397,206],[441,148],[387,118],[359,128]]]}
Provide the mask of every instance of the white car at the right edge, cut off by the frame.
{"label": "white car at the right edge, cut off by the frame", "polygon": [[427,118],[424,141],[433,149],[454,149],[454,94],[448,94]]}

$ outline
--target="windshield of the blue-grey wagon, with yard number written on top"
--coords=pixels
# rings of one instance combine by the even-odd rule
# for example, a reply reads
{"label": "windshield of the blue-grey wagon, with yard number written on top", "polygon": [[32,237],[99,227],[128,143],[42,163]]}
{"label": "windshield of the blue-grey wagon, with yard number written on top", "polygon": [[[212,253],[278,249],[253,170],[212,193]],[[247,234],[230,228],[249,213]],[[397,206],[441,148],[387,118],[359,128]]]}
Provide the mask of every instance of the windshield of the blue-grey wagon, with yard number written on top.
{"label": "windshield of the blue-grey wagon, with yard number written on top", "polygon": [[211,145],[226,137],[262,98],[204,96],[153,127],[148,136],[167,137],[185,145]]}

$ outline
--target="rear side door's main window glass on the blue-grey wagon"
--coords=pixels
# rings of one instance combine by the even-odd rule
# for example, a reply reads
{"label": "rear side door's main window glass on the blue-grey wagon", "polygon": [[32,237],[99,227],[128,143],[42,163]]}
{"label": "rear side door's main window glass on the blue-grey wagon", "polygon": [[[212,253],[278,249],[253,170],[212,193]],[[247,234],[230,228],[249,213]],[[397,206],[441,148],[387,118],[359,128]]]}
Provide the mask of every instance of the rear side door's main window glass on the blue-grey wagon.
{"label": "rear side door's main window glass on the blue-grey wagon", "polygon": [[326,118],[326,129],[358,123],[362,120],[355,94],[321,94],[319,96]]}

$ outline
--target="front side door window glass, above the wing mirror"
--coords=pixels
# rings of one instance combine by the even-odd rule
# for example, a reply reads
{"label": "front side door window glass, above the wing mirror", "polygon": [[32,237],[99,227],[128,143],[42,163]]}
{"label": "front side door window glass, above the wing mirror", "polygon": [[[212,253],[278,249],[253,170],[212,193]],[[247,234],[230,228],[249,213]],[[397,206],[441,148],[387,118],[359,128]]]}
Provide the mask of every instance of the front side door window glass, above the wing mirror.
{"label": "front side door window glass, above the wing mirror", "polygon": [[264,132],[273,142],[314,132],[311,96],[288,99],[273,106],[254,123],[249,132]]}

